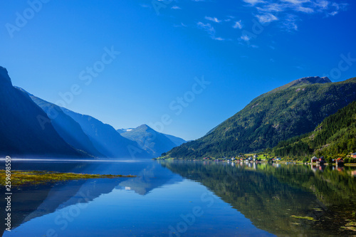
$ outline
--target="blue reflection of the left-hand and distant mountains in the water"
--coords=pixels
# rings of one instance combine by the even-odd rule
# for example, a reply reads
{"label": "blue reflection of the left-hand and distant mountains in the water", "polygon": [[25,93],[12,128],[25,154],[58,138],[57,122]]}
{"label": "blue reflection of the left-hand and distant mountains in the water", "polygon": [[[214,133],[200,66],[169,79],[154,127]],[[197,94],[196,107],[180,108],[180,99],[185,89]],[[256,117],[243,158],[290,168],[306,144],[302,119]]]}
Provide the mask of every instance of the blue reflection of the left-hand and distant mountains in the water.
{"label": "blue reflection of the left-hand and distant mountains in the water", "polygon": [[[20,170],[50,170],[56,172],[77,172],[92,174],[135,174],[136,178],[88,179],[66,181],[56,184],[21,186],[13,189],[11,200],[11,229],[33,218],[51,214],[80,203],[89,203],[113,189],[130,187],[138,194],[145,195],[150,190],[164,184],[180,181],[182,178],[155,162],[122,162],[113,164],[92,164],[74,162],[19,162],[14,165]],[[5,199],[0,200],[1,218],[5,218]],[[6,226],[1,226],[1,235]]]}

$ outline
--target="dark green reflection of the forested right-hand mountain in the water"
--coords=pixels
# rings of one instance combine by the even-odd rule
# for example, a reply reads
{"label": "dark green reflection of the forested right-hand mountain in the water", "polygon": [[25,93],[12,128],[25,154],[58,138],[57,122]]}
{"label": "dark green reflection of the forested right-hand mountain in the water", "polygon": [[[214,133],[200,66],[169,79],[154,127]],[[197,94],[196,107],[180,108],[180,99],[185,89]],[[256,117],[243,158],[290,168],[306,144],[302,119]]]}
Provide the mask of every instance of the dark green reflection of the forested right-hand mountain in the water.
{"label": "dark green reflection of the forested right-hand mountain in the water", "polygon": [[[253,165],[209,162],[161,162],[194,181],[278,236],[345,236],[347,219],[355,221],[356,181],[347,172],[313,172],[301,165]],[[355,215],[355,214],[353,214]],[[310,216],[310,221],[293,216]]]}

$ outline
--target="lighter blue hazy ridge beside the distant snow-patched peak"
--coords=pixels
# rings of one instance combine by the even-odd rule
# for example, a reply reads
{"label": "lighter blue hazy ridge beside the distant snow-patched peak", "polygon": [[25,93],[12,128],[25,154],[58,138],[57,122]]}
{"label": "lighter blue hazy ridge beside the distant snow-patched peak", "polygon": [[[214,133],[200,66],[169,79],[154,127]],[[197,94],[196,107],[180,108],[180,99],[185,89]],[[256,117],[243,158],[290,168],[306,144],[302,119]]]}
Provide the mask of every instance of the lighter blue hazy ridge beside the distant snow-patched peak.
{"label": "lighter blue hazy ridge beside the distant snow-patched peak", "polygon": [[122,137],[113,127],[104,124],[94,117],[80,115],[71,110],[61,108],[63,112],[78,122],[90,141],[105,157],[110,158],[152,158],[137,142]]}

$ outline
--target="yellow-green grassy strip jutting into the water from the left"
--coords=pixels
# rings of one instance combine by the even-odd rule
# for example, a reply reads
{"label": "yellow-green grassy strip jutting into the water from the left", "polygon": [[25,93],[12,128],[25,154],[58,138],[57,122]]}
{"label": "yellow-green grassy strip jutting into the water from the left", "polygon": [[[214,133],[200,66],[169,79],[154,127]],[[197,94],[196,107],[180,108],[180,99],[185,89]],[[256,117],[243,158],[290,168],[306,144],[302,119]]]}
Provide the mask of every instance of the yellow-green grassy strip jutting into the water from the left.
{"label": "yellow-green grassy strip jutting into the water from the left", "polygon": [[[70,181],[79,179],[114,179],[114,178],[132,178],[135,175],[113,175],[113,174],[75,174],[46,171],[13,171],[11,172],[11,185],[24,186],[54,183],[58,181]],[[6,180],[6,172],[0,170],[0,179]]]}

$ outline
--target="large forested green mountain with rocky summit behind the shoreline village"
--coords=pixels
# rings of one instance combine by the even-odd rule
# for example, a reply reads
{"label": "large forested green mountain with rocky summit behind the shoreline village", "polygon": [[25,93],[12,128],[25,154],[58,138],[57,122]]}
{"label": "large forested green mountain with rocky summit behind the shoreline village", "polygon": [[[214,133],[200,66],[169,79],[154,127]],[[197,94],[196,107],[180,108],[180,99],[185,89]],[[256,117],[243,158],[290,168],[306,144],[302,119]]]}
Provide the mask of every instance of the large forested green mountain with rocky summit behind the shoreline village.
{"label": "large forested green mountain with rocky summit behind the shoreline village", "polygon": [[167,157],[222,157],[258,152],[311,132],[325,117],[356,100],[356,78],[330,83],[302,78],[260,95],[213,131],[175,147]]}

